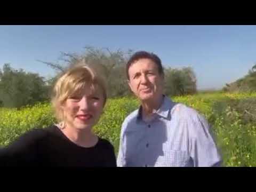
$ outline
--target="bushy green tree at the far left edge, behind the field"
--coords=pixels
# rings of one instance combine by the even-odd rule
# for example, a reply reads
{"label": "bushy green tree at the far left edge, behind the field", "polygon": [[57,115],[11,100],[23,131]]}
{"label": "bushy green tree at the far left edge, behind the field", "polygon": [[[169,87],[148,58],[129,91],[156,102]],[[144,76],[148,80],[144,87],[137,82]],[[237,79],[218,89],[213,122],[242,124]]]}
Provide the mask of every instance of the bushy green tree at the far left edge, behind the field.
{"label": "bushy green tree at the far left edge, behind the field", "polygon": [[43,77],[26,73],[23,69],[12,69],[9,63],[4,64],[0,80],[0,96],[4,107],[20,108],[48,98],[49,89]]}

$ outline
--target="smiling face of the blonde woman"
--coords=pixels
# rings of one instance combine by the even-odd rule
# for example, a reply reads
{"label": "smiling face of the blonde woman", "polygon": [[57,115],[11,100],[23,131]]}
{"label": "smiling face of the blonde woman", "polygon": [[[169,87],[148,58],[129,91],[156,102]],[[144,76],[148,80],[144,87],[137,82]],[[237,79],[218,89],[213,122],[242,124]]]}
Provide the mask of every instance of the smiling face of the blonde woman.
{"label": "smiling face of the blonde woman", "polygon": [[62,105],[66,125],[71,129],[90,129],[98,122],[103,110],[103,91],[99,86],[84,86]]}

